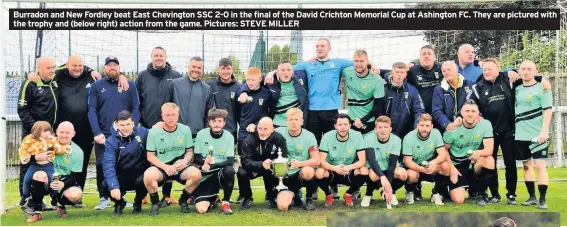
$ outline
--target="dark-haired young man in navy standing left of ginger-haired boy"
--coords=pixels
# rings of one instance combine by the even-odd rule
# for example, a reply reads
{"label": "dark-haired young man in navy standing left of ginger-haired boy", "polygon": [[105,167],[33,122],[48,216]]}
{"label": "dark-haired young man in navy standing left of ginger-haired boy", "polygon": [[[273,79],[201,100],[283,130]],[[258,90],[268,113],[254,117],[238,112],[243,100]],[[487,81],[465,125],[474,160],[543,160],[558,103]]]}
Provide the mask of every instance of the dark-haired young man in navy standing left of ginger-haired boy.
{"label": "dark-haired young man in navy standing left of ginger-haired boy", "polygon": [[228,112],[226,125],[227,130],[234,137],[236,143],[237,119],[234,118],[234,102],[236,100],[236,91],[242,85],[232,75],[232,61],[230,58],[223,58],[219,61],[219,76],[215,79],[207,81],[207,84],[213,89],[213,97],[217,109],[224,109]]}

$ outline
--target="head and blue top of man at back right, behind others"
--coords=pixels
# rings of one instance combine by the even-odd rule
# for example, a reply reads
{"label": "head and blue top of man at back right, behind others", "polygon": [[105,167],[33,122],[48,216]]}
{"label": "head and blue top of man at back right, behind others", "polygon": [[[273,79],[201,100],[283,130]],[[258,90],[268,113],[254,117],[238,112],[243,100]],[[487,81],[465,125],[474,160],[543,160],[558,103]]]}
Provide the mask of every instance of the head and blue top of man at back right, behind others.
{"label": "head and blue top of man at back right, behind others", "polygon": [[468,43],[461,45],[457,52],[457,57],[455,62],[459,69],[458,72],[465,77],[465,80],[474,84],[482,76],[482,66],[478,60],[474,59],[474,47]]}

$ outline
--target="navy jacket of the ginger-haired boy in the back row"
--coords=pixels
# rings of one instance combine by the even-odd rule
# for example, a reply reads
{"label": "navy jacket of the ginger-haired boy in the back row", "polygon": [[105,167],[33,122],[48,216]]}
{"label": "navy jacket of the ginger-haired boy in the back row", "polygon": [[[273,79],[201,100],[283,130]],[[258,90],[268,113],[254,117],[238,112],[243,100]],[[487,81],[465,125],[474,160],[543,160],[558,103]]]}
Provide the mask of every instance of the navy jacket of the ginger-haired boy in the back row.
{"label": "navy jacket of the ginger-haired boy in the back row", "polygon": [[[252,98],[252,100],[246,103],[238,102],[238,97],[240,97],[242,92],[248,93],[248,97]],[[240,126],[238,139],[244,140],[248,134],[250,134],[246,131],[246,127],[248,127],[249,124],[258,125],[258,121],[260,121],[262,117],[269,116],[270,102],[273,102],[272,92],[262,86],[260,86],[258,90],[252,91],[248,89],[246,83],[243,83],[242,87],[236,91],[234,97],[236,98],[234,102],[234,119]]]}

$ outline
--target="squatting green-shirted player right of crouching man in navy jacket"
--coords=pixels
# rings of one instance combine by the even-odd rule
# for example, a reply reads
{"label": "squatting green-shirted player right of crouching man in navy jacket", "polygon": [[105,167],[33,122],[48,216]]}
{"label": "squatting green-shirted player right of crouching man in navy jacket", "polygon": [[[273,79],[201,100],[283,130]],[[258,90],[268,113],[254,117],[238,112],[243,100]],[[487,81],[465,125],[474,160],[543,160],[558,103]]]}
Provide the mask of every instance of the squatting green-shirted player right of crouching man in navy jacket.
{"label": "squatting green-shirted player right of crouching man in navy jacket", "polygon": [[152,209],[150,215],[158,215],[160,202],[158,187],[173,179],[185,185],[179,198],[182,213],[189,213],[187,200],[201,180],[199,169],[190,166],[193,159],[193,138],[191,129],[178,123],[179,107],[165,103],[161,107],[163,128],[152,128],[148,134],[147,158],[152,164],[144,173],[144,185],[150,193]]}

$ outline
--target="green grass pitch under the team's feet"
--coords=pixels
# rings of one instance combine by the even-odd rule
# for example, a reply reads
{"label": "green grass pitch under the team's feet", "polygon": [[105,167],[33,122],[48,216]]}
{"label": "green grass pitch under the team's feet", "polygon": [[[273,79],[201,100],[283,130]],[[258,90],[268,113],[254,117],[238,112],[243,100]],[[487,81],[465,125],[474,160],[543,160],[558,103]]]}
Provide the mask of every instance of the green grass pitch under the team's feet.
{"label": "green grass pitch under the team's feet", "polygon": [[[500,178],[500,193],[506,194],[504,187],[504,171],[499,171]],[[523,179],[523,171],[519,171],[519,179]],[[557,168],[549,169],[551,179],[562,179],[563,181],[550,182],[548,189],[548,206],[547,212],[560,212],[561,224],[567,225],[567,169]],[[254,185],[262,185],[255,182]],[[521,205],[508,206],[503,201],[499,204],[490,204],[487,207],[479,207],[473,201],[467,201],[466,204],[456,205],[446,202],[444,206],[435,206],[428,201],[432,184],[425,183],[424,197],[425,201],[416,202],[412,205],[403,203],[404,189],[397,192],[397,198],[400,200],[400,205],[393,210],[386,210],[383,201],[374,201],[369,208],[361,208],[360,201],[355,203],[354,207],[346,207],[343,201],[335,201],[332,209],[323,207],[323,194],[319,194],[320,200],[316,202],[317,209],[315,211],[306,212],[302,209],[294,209],[289,212],[281,212],[279,210],[270,210],[264,203],[264,190],[254,190],[254,205],[250,210],[241,210],[236,204],[232,206],[234,211],[233,215],[224,215],[214,210],[210,213],[200,215],[196,213],[181,214],[178,206],[170,206],[160,210],[160,215],[157,217],[150,217],[149,205],[143,207],[143,214],[132,215],[130,210],[125,210],[125,214],[121,217],[112,216],[112,209],[103,211],[95,211],[93,207],[98,203],[98,198],[95,194],[88,194],[85,196],[84,201],[87,204],[85,209],[69,208],[69,218],[61,219],[56,216],[55,212],[45,212],[44,218],[41,222],[34,225],[50,225],[50,226],[68,226],[68,225],[326,225],[327,214],[333,212],[541,212],[537,207],[524,207]],[[175,184],[175,188],[179,188]],[[346,188],[342,187],[341,192]],[[364,188],[362,191],[364,192]],[[322,193],[322,192],[320,192]],[[523,183],[518,184],[518,202],[523,202],[527,199],[527,192]],[[375,192],[377,197],[378,192]],[[9,195],[9,196],[14,196]],[[16,195],[17,196],[17,195]],[[179,196],[179,192],[174,193],[175,197]],[[234,191],[233,199],[236,199],[238,192]],[[133,200],[133,194],[128,194],[129,201]],[[194,211],[194,207],[192,207]],[[19,208],[10,210],[7,214],[1,216],[0,224],[6,225],[27,225],[25,222],[26,216],[23,215]]]}

